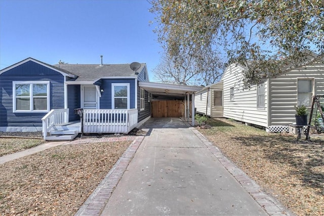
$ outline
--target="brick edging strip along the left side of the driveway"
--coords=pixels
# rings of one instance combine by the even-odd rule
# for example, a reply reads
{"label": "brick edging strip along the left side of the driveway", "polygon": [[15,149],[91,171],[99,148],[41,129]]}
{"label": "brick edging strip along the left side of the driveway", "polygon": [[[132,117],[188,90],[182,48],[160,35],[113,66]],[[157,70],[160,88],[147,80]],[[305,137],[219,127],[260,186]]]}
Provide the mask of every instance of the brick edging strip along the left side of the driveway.
{"label": "brick edging strip along the left side of the driveway", "polygon": [[[133,137],[133,136],[132,136]],[[97,188],[92,192],[84,204],[75,213],[75,216],[80,215],[100,215],[104,209],[108,199],[110,198],[113,190],[117,186],[119,180],[123,176],[128,164],[134,157],[135,152],[142,143],[145,136],[137,136],[133,143],[127,148],[127,150],[121,155],[117,162],[110,169],[106,177],[101,181]],[[120,139],[121,137],[119,137]],[[100,138],[108,139],[109,138]],[[100,139],[96,139],[96,142]],[[117,138],[118,139],[118,138]],[[122,138],[121,138],[122,139]],[[133,137],[134,139],[134,137]],[[89,141],[89,140],[88,140]],[[87,141],[87,142],[88,142]],[[112,141],[112,140],[110,140]],[[76,142],[76,141],[75,141]],[[100,142],[105,142],[101,140]],[[76,142],[78,143],[78,142]]]}

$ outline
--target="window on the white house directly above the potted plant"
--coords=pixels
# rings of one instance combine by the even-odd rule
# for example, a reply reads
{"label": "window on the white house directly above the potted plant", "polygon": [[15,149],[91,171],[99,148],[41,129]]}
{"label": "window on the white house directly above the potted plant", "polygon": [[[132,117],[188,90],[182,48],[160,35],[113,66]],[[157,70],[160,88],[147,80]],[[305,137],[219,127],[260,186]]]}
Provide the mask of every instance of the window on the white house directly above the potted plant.
{"label": "window on the white house directly above the potted plant", "polygon": [[313,95],[313,80],[298,79],[297,89],[297,106],[305,105],[306,107],[310,107]]}

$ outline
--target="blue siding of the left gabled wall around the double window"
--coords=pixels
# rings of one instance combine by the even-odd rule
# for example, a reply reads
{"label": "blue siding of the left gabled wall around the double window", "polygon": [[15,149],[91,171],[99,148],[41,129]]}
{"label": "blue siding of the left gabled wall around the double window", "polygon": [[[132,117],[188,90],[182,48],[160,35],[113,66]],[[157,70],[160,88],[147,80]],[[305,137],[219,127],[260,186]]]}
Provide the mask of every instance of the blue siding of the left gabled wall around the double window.
{"label": "blue siding of the left gabled wall around the double window", "polygon": [[64,108],[64,76],[28,61],[0,74],[0,126],[42,126],[44,113],[13,113],[13,81],[50,81],[50,109]]}

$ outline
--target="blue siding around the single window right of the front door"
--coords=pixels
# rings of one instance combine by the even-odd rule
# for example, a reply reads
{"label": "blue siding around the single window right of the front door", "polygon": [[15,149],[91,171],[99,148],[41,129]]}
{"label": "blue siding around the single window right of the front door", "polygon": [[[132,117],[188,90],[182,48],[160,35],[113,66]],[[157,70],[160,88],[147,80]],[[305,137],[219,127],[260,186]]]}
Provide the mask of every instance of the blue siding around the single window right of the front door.
{"label": "blue siding around the single window right of the front door", "polygon": [[101,89],[104,92],[100,98],[100,109],[112,109],[111,107],[111,83],[130,83],[130,109],[135,108],[135,79],[102,79]]}

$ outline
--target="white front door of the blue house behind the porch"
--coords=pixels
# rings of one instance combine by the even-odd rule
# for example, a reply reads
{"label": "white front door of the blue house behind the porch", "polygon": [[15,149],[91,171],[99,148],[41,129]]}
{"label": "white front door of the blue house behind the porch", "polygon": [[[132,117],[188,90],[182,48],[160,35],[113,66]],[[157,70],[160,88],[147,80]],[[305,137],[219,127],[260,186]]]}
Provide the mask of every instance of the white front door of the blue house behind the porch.
{"label": "white front door of the blue house behind the porch", "polygon": [[83,85],[81,91],[81,108],[98,109],[98,95],[94,85]]}

